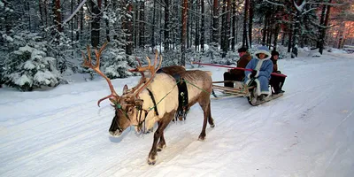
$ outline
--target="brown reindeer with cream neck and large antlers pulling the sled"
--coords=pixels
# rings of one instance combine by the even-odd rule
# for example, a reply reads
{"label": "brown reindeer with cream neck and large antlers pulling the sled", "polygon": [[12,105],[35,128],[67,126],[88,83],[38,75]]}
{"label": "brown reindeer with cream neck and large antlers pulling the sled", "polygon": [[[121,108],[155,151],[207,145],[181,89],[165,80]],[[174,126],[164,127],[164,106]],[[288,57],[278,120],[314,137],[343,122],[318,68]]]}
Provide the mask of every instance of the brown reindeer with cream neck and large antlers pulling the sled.
{"label": "brown reindeer with cream neck and large antlers pulling the sled", "polygon": [[[147,57],[149,65],[139,66],[131,72],[142,73],[142,78],[133,89],[128,89],[127,85],[123,88],[123,94],[119,96],[113,89],[111,80],[104,75],[99,69],[101,52],[103,47],[96,50],[96,65],[92,65],[89,46],[88,57],[82,52],[84,62],[87,66],[96,73],[100,74],[108,82],[111,94],[98,100],[97,105],[104,99],[109,98],[115,110],[115,115],[112,119],[112,125],[109,132],[112,136],[119,136],[127,129],[127,127],[134,126],[136,131],[142,129],[149,129],[158,122],[158,129],[154,133],[154,140],[148,157],[148,164],[155,165],[158,159],[158,151],[165,149],[165,127],[174,118],[174,114],[178,108],[178,89],[176,81],[167,73],[156,73],[161,66],[162,56],[160,56],[158,63],[158,52],[155,55],[154,65],[150,64],[150,58]],[[150,77],[145,77],[143,72],[149,72]],[[204,122],[202,132],[198,140],[204,141],[205,128],[207,121],[211,127],[214,127],[214,121],[211,113],[210,93],[212,92],[212,78],[209,73],[194,70],[181,72],[182,78],[188,81],[189,90],[189,107],[198,103],[204,112]],[[143,124],[145,124],[143,126]]]}

